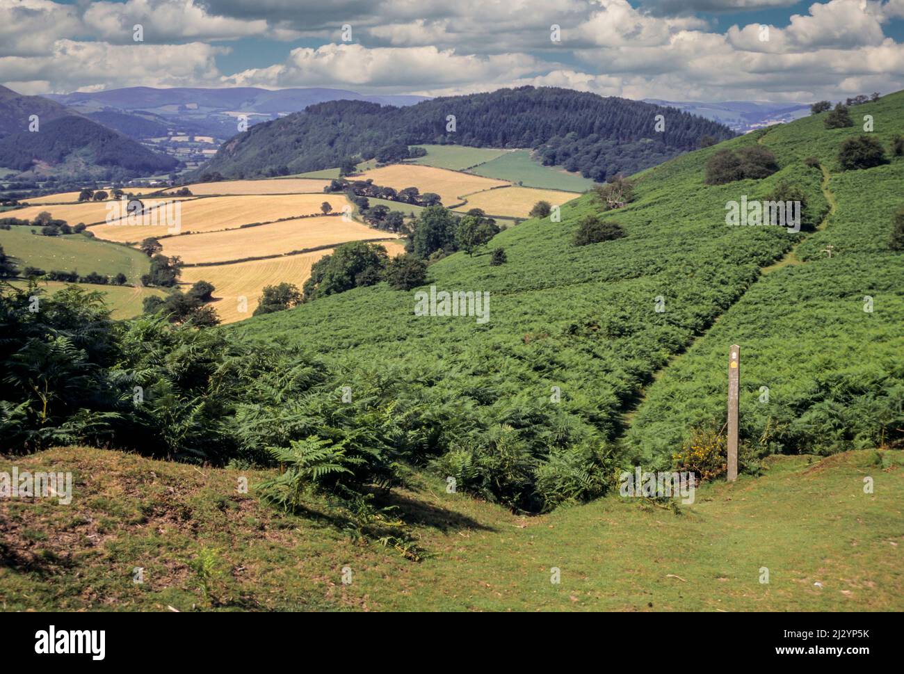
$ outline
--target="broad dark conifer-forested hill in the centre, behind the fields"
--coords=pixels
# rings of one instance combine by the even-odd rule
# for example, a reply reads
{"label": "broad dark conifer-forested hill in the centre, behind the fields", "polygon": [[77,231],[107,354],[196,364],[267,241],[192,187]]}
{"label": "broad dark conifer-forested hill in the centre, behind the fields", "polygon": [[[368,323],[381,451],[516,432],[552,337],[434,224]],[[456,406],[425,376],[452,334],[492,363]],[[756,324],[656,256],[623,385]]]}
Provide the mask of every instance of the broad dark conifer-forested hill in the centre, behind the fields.
{"label": "broad dark conifer-forested hill in the centre, behind the fields", "polygon": [[[663,115],[664,131],[656,130],[657,115]],[[677,109],[547,87],[451,96],[406,108],[335,100],[240,133],[199,173],[281,176],[339,166],[345,157],[370,159],[397,142],[454,143],[531,147],[544,164],[602,181],[699,147],[704,136],[732,135],[721,124]]]}

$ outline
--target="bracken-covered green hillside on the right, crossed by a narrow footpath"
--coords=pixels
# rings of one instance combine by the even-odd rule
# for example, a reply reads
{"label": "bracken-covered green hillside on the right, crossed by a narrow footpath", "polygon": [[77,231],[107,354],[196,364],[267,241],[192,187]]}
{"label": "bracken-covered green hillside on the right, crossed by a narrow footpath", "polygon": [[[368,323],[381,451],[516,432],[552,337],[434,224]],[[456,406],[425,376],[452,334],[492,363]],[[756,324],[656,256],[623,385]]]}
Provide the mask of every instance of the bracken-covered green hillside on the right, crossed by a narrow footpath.
{"label": "bracken-covered green hillside on the right, crossed by a narrow footpath", "polygon": [[[897,93],[858,106],[852,114],[855,119],[873,115],[874,137],[888,148],[890,138],[904,132],[902,103],[904,93]],[[856,441],[843,432],[827,435],[818,423],[801,422],[795,432],[761,443],[769,451],[827,452],[889,441],[892,434],[900,435],[893,429],[904,426],[893,400],[904,375],[900,361],[893,366],[890,360],[894,346],[900,345],[892,332],[899,325],[895,309],[900,306],[893,289],[904,288],[904,259],[884,246],[891,209],[901,200],[892,185],[896,180],[900,185],[904,159],[835,177],[838,150],[845,138],[858,135],[857,128],[824,129],[820,117],[734,138],[639,174],[636,199],[623,209],[603,213],[593,195],[584,195],[562,208],[561,223],[532,220],[498,234],[489,248],[504,247],[508,263],[503,266],[490,266],[488,254],[463,253],[432,265],[427,285],[490,293],[490,320],[483,324],[475,318],[415,316],[413,292],[381,284],[231,329],[305,345],[347,370],[353,390],[356,385],[366,389],[374,376],[398,378],[406,384],[406,397],[393,412],[403,418],[410,414],[410,432],[421,438],[422,453],[413,459],[433,460],[440,474],[456,476],[466,489],[520,508],[550,508],[565,494],[595,493],[594,485],[612,462],[626,460],[613,458],[619,457],[617,441],[626,431],[626,413],[644,397],[654,375],[695,342],[700,346],[689,354],[684,369],[674,379],[664,376],[662,385],[717,384],[724,376],[724,349],[732,341],[745,347],[748,396],[751,390],[758,392],[759,381],[765,381],[762,373],[773,366],[769,363],[777,363],[777,356],[784,363],[794,361],[794,373],[785,365],[776,369],[785,373],[780,379],[796,378],[795,391],[805,394],[791,400],[778,384],[770,410],[783,419],[824,415],[825,391],[835,391],[832,395],[837,393],[841,401],[845,385],[859,382],[855,393],[862,394],[863,404],[858,406],[862,418],[852,426]],[[760,141],[776,154],[777,174],[704,184],[704,166],[712,154]],[[822,166],[806,166],[806,157],[817,157]],[[825,192],[823,170],[832,175]],[[858,185],[858,175],[866,182]],[[821,231],[795,234],[725,223],[727,202],[744,195],[766,198],[782,180],[803,190],[815,222],[829,212],[829,197],[836,201]],[[587,214],[621,223],[626,236],[575,247],[571,235]],[[806,261],[826,242],[843,252],[831,263]],[[762,270],[797,243],[794,254],[806,262],[778,267],[764,280]],[[797,283],[798,278],[808,282]],[[856,337],[845,332],[845,325],[826,320],[817,310],[822,300],[807,309],[807,293],[814,289],[823,299],[837,294],[833,318],[848,312],[848,324],[859,321]],[[862,313],[864,294],[877,298],[870,315]],[[734,305],[739,309],[728,313]],[[657,306],[665,310],[658,312]],[[745,306],[755,307],[757,315]],[[792,317],[783,325],[780,317],[789,311],[806,320]],[[735,314],[749,329],[730,330]],[[694,360],[698,352],[710,353],[707,331],[717,318],[726,327],[720,320],[719,331],[713,330],[715,356]],[[769,337],[774,331],[781,337]],[[760,341],[751,342],[752,336]],[[839,368],[852,365],[838,350],[845,340],[858,348],[871,344],[880,349],[880,359],[861,361],[871,370],[870,378],[842,375]],[[758,349],[767,352],[758,356]],[[758,357],[764,363],[760,374],[754,369]],[[849,384],[833,389],[843,378]],[[551,402],[553,386],[560,387],[560,403]],[[640,425],[627,436],[628,447],[640,456],[667,460],[678,449],[674,443],[690,432],[682,414],[698,419],[712,413],[711,425],[718,431],[723,412],[717,393],[708,388],[700,401],[685,400],[693,393],[675,400],[673,393],[677,416],[663,436],[650,421],[665,423],[650,406],[651,387],[650,400],[636,417]],[[663,413],[669,409],[665,406]],[[745,421],[745,441],[756,444],[757,432],[757,423]]]}

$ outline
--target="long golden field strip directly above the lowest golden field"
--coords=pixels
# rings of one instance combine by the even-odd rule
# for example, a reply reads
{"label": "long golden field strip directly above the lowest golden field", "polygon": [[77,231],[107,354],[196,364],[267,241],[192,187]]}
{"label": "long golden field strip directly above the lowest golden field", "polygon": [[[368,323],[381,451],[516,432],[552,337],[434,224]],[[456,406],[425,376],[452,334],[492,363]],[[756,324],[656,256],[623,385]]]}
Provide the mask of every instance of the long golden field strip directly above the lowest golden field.
{"label": "long golden field strip directly above the lowest golden field", "polygon": [[162,239],[164,255],[178,255],[188,264],[222,262],[279,255],[333,243],[362,239],[392,239],[395,235],[372,229],[342,216],[298,218],[228,232],[188,234]]}

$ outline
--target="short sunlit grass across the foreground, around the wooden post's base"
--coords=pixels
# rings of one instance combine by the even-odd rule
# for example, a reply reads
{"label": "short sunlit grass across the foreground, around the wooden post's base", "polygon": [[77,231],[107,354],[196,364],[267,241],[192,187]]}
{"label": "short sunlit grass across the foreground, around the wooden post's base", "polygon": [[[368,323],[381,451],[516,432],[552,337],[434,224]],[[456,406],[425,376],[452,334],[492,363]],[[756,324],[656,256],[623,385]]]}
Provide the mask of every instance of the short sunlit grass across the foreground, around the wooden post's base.
{"label": "short sunlit grass across the foreground, around the wooden post's base", "polygon": [[83,448],[0,458],[13,466],[71,470],[73,498],[0,499],[4,611],[904,609],[895,451],[772,457],[681,514],[611,496],[518,517],[412,474],[387,500],[414,523],[420,563],[353,542],[315,498],[304,517],[262,505],[262,471]]}

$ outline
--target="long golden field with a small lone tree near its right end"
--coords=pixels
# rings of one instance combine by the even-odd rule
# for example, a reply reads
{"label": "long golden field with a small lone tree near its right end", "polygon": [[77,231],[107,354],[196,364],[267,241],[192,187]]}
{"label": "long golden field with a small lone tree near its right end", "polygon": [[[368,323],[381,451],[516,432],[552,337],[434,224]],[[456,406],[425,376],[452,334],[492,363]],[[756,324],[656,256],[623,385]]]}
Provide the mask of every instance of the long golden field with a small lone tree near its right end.
{"label": "long golden field with a small lone tree near its right end", "polygon": [[[298,215],[320,213],[320,204],[328,202],[335,213],[341,213],[349,205],[345,195],[245,195],[209,196],[193,199],[180,205],[179,226],[170,232],[166,218],[157,218],[162,224],[126,224],[118,222],[91,227],[99,239],[116,242],[139,242],[148,236],[164,236],[167,233],[219,232],[238,229],[243,224],[267,223]],[[146,204],[154,204],[147,201]],[[239,257],[245,257],[240,255]]]}

